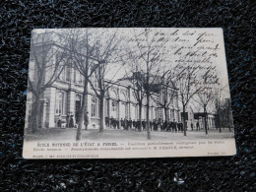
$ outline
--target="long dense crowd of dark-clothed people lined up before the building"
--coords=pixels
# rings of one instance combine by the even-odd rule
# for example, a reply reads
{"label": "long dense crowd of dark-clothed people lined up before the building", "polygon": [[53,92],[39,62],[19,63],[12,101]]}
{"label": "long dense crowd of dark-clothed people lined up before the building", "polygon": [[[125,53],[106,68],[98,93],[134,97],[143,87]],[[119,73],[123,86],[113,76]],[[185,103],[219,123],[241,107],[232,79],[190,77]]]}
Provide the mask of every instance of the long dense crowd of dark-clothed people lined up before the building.
{"label": "long dense crowd of dark-clothed people lined up before the building", "polygon": [[[105,125],[107,127],[113,128],[113,129],[124,129],[124,130],[131,130],[135,129],[137,131],[144,131],[147,128],[147,121],[145,119],[142,119],[140,122],[139,120],[135,121],[132,119],[120,119],[119,120],[115,118],[109,118],[105,117]],[[150,121],[150,129],[151,131],[168,131],[168,132],[182,132],[184,129],[182,122],[176,122],[176,121],[162,121],[161,119],[157,120],[154,119],[153,121]]]}

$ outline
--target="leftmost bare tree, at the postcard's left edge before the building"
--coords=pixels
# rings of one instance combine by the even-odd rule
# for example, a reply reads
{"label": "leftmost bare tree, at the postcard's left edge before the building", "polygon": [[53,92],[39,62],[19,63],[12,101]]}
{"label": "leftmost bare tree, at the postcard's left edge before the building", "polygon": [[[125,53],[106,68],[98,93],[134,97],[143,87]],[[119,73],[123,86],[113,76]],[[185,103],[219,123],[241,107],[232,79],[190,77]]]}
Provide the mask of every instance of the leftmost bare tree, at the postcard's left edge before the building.
{"label": "leftmost bare tree, at the postcard's left edge before the building", "polygon": [[37,132],[40,99],[47,88],[59,78],[68,63],[68,54],[60,47],[59,34],[32,32],[28,89],[34,96],[32,102],[32,133]]}

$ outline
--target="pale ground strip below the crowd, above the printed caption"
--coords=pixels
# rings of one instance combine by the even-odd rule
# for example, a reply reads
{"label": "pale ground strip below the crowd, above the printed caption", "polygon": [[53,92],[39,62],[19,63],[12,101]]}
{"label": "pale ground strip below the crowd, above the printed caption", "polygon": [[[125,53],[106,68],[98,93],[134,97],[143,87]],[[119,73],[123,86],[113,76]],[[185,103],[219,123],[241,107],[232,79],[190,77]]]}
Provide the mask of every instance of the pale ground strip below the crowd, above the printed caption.
{"label": "pale ground strip below the crowd, above the printed caption", "polygon": [[[48,128],[39,129],[37,134],[26,134],[25,139],[29,141],[65,141],[76,139],[77,129],[71,128]],[[219,133],[217,129],[210,129],[208,135],[205,130],[187,130],[187,136],[183,133],[172,133],[166,131],[151,131],[153,141],[173,141],[173,140],[201,140],[201,139],[231,139],[234,137],[233,129],[222,129]],[[81,140],[93,141],[147,141],[147,132],[136,132],[134,130],[105,129],[99,133],[97,129],[82,129]]]}

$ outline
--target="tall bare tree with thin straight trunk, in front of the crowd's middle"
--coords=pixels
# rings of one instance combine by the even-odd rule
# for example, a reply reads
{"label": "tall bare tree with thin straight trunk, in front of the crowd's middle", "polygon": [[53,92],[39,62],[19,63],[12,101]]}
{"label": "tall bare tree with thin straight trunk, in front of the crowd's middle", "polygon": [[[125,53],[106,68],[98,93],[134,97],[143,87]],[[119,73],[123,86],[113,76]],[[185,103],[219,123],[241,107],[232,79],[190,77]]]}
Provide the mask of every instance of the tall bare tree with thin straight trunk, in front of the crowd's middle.
{"label": "tall bare tree with thin straight trunk, in front of the crowd's middle", "polygon": [[[136,60],[136,63],[139,63],[137,69],[130,69],[131,72],[138,71],[141,76],[147,107],[147,138],[151,139],[150,98],[154,93],[154,85],[160,81],[162,65],[164,64],[164,53],[166,52],[164,44],[167,42],[167,39],[164,37],[163,32],[154,32],[152,29],[144,29],[143,32],[138,32],[134,31],[134,37],[128,41],[131,45],[128,60]],[[129,68],[130,66],[127,65],[127,67]]]}

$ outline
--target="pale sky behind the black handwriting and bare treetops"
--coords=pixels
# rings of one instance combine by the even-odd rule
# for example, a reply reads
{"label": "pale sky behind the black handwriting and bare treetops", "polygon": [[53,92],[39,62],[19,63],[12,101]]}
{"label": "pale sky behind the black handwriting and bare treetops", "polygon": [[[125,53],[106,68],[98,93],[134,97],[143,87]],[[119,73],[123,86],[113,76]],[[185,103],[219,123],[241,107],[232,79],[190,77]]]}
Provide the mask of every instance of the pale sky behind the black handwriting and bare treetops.
{"label": "pale sky behind the black handwriting and bare treetops", "polygon": [[[67,29],[48,29],[49,32],[63,32]],[[44,32],[45,30],[36,29],[33,30],[35,33]],[[81,33],[86,32],[86,29],[79,29]],[[204,63],[205,66],[216,66],[218,77],[221,80],[221,87],[224,88],[224,97],[229,97],[229,87],[228,87],[228,78],[227,78],[227,69],[225,61],[225,52],[224,52],[224,35],[223,30],[220,28],[211,28],[211,29],[189,29],[189,28],[101,28],[101,29],[89,29],[89,31],[94,32],[103,32],[101,38],[107,39],[111,34],[116,32],[117,38],[120,40],[119,52],[120,55],[125,55],[127,50],[134,51],[135,54],[139,54],[139,49],[136,41],[131,39],[139,39],[141,46],[147,47],[148,42],[153,42],[154,47],[158,45],[164,46],[164,48],[155,49],[152,53],[157,52],[158,54],[164,53],[164,59],[160,62],[159,67],[155,67],[154,70],[160,69],[161,72],[171,69],[177,64],[183,64],[178,61],[184,58],[192,58],[192,60],[202,60],[203,58],[207,59],[211,57],[211,63]],[[147,40],[148,38],[148,40]],[[164,39],[164,43],[162,43]],[[216,47],[216,49],[214,49]],[[143,48],[141,50],[144,50]],[[207,52],[204,54],[204,52]],[[187,53],[194,53],[194,55],[186,56]],[[211,55],[212,54],[212,55]],[[202,56],[203,55],[203,56]],[[116,55],[115,55],[116,56]],[[126,57],[123,56],[125,59]],[[144,60],[138,60],[141,66],[144,66]],[[184,65],[186,62],[184,62]],[[190,65],[194,65],[190,63]],[[112,63],[111,69],[106,74],[106,79],[117,80],[125,76],[127,71],[130,71],[129,68],[131,64],[129,62],[123,63],[122,61],[117,63]],[[145,69],[145,68],[143,68]],[[153,70],[153,71],[154,71]]]}

